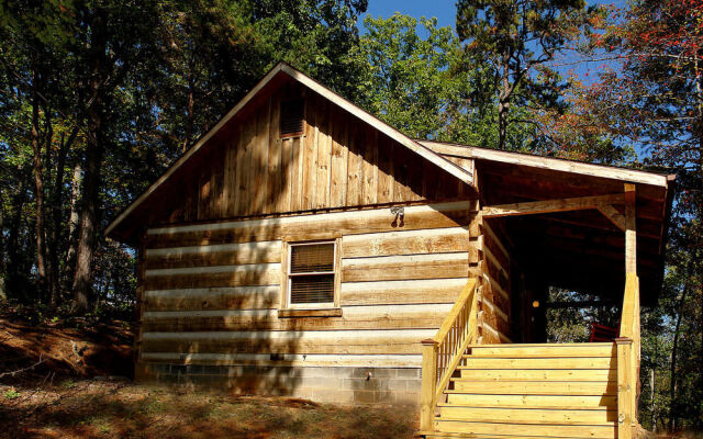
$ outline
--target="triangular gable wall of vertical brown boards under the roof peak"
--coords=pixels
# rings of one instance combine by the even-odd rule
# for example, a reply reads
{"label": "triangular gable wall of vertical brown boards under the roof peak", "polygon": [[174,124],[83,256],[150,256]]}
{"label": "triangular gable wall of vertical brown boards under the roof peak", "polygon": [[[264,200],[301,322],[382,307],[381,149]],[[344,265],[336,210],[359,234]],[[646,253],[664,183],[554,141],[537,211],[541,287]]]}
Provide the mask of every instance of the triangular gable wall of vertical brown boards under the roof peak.
{"label": "triangular gable wall of vertical brown boards under the roof peak", "polygon": [[[299,95],[305,100],[303,135],[280,138],[280,102]],[[160,196],[148,224],[455,200],[469,193],[466,183],[310,90],[290,85],[253,105],[210,140],[215,144],[207,153],[191,159],[171,185],[178,193]]]}

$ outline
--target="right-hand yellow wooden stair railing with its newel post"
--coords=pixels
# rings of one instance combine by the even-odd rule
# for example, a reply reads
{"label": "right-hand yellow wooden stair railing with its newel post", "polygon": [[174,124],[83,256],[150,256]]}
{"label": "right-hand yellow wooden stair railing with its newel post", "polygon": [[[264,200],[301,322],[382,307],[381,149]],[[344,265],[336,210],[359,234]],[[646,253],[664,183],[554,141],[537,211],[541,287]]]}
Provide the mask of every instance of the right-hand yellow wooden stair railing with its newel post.
{"label": "right-hand yellow wooden stair railing with its newel post", "polygon": [[627,273],[623,315],[617,344],[617,430],[618,438],[632,438],[637,423],[637,389],[639,384],[639,278]]}

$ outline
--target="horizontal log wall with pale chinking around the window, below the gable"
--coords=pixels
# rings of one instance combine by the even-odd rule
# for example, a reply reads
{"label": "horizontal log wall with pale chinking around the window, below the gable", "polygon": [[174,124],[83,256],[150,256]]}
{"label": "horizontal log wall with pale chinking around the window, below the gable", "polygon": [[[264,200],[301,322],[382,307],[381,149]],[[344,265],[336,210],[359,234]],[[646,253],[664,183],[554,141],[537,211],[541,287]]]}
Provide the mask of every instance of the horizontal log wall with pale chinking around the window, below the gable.
{"label": "horizontal log wall with pale chinking around the window, below the gable", "polygon": [[[410,368],[419,391],[420,341],[478,274],[477,204],[148,229],[141,378],[149,364]],[[330,236],[342,237],[342,316],[279,317],[282,240]]]}

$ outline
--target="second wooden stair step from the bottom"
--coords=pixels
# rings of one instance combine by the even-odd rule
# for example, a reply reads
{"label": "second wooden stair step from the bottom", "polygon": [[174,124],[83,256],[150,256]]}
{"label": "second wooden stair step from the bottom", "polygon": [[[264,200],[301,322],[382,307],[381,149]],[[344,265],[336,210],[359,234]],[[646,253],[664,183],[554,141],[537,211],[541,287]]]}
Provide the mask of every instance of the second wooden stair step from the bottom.
{"label": "second wooden stair step from the bottom", "polygon": [[617,420],[616,410],[604,408],[566,409],[545,407],[476,407],[467,405],[444,405],[439,407],[440,419],[462,419],[471,421],[535,421],[568,423],[579,421],[588,425],[607,425]]}

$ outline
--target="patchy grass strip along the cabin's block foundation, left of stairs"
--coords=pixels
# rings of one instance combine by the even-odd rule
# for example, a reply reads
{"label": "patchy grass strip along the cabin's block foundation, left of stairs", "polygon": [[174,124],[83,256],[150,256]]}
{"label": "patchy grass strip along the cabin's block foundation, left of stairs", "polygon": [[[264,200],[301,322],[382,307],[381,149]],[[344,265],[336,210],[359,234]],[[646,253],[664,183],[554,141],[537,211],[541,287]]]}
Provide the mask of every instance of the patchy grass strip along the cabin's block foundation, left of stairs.
{"label": "patchy grass strip along the cabin's block foundation, left of stairs", "polygon": [[[10,389],[0,387],[0,392]],[[14,391],[16,392],[16,391]],[[72,380],[0,398],[2,438],[412,438],[413,408]]]}

